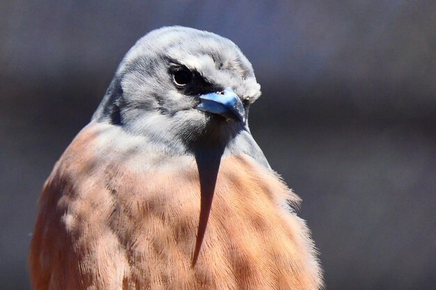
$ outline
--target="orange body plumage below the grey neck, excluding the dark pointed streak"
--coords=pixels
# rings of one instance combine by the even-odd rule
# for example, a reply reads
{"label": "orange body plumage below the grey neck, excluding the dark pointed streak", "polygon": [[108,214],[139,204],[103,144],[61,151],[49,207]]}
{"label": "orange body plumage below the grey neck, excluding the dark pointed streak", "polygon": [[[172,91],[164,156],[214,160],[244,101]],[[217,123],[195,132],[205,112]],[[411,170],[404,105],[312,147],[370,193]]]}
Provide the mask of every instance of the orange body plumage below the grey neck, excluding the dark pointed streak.
{"label": "orange body plumage below the grey neck, excluding the dark pointed streak", "polygon": [[223,157],[192,266],[201,198],[195,159],[145,159],[99,140],[105,130],[86,127],[45,184],[31,243],[35,289],[320,287],[308,229],[286,204],[299,198],[273,172],[249,156]]}

